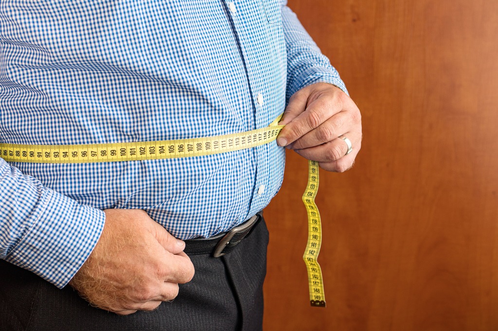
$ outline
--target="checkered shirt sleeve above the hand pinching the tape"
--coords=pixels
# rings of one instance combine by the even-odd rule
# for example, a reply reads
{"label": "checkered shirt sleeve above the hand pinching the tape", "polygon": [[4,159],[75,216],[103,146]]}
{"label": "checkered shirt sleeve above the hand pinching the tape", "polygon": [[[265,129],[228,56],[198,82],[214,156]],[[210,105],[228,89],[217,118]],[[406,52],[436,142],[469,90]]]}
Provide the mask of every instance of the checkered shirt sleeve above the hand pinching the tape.
{"label": "checkered shirt sleeve above the hand pinching the tape", "polygon": [[287,7],[287,1],[281,0],[280,4],[287,50],[287,100],[299,89],[319,82],[331,83],[348,93],[339,73]]}

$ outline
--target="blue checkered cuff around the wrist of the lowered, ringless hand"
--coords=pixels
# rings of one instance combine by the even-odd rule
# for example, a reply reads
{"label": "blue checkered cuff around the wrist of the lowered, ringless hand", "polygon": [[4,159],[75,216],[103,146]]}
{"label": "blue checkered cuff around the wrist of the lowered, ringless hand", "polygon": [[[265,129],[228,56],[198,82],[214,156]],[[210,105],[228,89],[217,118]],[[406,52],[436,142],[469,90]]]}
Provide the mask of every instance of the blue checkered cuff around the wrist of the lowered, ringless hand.
{"label": "blue checkered cuff around the wrist of the lowered, ringless hand", "polygon": [[105,214],[52,190],[43,192],[36,212],[5,260],[63,288],[97,245]]}

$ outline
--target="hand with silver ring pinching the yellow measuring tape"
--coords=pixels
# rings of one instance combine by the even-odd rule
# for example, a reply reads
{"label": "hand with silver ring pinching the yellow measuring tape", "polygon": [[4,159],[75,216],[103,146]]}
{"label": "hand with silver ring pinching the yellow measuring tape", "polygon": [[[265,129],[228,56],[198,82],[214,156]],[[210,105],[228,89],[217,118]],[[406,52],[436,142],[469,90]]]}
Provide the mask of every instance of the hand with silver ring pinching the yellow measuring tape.
{"label": "hand with silver ring pinching the yellow measuring tape", "polygon": [[[328,171],[350,169],[362,146],[360,110],[332,84],[315,83],[295,92],[278,124],[285,124],[278,135],[278,145],[318,161]],[[344,137],[351,142],[349,154]]]}

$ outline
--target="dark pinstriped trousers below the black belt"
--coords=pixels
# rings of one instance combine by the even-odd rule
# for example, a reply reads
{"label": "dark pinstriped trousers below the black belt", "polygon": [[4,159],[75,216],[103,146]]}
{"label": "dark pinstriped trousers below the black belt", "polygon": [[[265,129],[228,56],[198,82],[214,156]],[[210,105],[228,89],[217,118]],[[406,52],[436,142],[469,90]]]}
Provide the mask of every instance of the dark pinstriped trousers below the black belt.
{"label": "dark pinstriped trousers below the black belt", "polygon": [[128,316],[93,308],[70,286],[60,290],[0,260],[0,331],[261,330],[267,244],[261,220],[227,255],[191,255],[195,276],[173,302]]}

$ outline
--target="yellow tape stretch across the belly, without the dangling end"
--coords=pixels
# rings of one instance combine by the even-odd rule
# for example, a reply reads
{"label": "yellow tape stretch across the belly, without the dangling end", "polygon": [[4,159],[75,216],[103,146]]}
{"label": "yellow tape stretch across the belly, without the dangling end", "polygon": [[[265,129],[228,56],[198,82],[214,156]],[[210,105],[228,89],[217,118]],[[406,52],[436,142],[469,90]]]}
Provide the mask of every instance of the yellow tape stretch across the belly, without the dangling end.
{"label": "yellow tape stretch across the belly, without the dangling end", "polygon": [[86,145],[0,144],[0,156],[8,162],[99,163],[189,158],[243,150],[267,144],[283,125],[243,133],[205,138]]}

